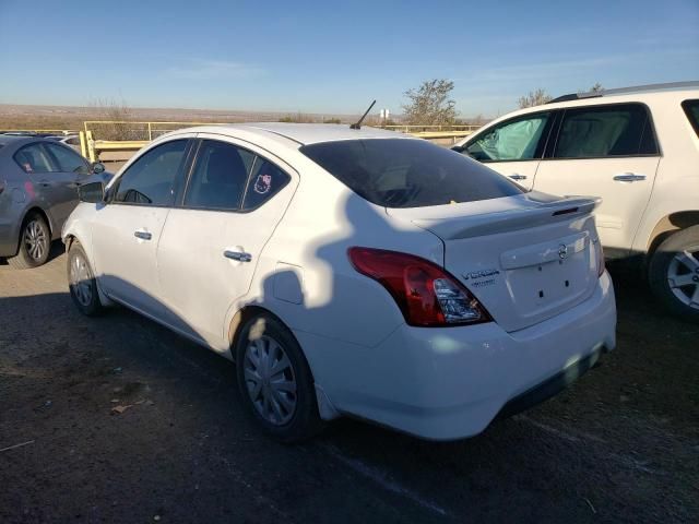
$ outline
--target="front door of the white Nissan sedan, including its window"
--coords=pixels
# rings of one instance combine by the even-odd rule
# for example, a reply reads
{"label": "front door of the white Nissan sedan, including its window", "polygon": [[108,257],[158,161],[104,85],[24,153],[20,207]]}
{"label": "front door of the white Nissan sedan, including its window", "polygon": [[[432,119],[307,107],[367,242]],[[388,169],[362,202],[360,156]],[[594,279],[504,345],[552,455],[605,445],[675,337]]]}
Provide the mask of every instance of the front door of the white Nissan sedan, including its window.
{"label": "front door of the white Nissan sedan, including its window", "polygon": [[156,250],[175,202],[189,141],[179,138],[141,154],[109,188],[93,225],[95,271],[112,298],[163,320]]}

